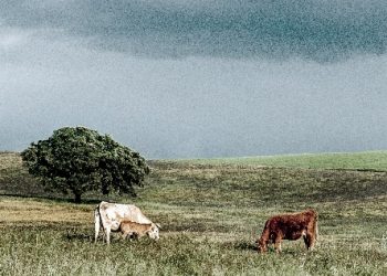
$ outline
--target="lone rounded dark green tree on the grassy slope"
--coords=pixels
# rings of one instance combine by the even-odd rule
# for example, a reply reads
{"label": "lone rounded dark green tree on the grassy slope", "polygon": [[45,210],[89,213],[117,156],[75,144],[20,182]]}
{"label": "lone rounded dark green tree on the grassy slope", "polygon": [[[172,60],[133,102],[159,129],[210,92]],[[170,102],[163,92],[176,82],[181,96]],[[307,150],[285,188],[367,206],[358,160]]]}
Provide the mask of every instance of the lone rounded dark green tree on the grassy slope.
{"label": "lone rounded dark green tree on the grassy slope", "polygon": [[48,189],[72,192],[76,203],[86,191],[135,195],[149,167],[138,152],[85,127],[57,129],[21,152],[29,172]]}

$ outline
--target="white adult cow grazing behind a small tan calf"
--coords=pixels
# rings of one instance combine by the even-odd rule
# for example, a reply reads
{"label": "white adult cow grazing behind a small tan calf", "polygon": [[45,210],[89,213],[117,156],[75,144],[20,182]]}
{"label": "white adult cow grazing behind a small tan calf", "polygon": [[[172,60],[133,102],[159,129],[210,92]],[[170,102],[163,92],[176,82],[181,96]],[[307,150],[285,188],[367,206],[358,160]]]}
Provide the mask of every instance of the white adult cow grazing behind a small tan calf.
{"label": "white adult cow grazing behind a small tan calf", "polygon": [[111,243],[111,232],[119,231],[119,225],[123,220],[140,224],[151,224],[153,231],[149,233],[149,237],[154,240],[159,238],[159,225],[153,223],[146,217],[142,211],[132,204],[117,204],[102,201],[94,210],[94,223],[95,223],[95,242],[98,238],[100,229],[102,226],[106,234],[107,244]]}

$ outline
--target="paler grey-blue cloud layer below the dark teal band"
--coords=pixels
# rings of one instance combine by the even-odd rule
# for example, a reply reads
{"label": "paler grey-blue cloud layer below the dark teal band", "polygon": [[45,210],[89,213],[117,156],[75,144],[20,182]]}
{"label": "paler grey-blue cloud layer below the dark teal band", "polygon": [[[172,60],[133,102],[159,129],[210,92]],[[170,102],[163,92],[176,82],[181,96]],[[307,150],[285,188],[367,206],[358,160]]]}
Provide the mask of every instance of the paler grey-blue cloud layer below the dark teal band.
{"label": "paler grey-blue cloud layer below the dark teal band", "polygon": [[18,56],[1,63],[0,150],[69,125],[111,134],[147,158],[387,148],[387,55],[154,60],[27,38]]}

